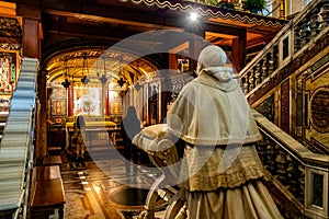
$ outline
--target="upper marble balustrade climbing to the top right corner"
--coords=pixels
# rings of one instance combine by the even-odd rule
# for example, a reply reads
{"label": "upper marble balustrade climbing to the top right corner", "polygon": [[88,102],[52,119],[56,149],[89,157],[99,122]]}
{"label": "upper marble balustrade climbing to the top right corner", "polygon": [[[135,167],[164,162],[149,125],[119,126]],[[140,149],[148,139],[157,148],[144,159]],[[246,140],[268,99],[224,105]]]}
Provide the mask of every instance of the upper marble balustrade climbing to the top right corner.
{"label": "upper marble balustrade climbing to the top right corner", "polygon": [[329,0],[314,0],[287,23],[239,73],[246,96],[249,97],[271,79],[276,82],[305,51],[328,35]]}

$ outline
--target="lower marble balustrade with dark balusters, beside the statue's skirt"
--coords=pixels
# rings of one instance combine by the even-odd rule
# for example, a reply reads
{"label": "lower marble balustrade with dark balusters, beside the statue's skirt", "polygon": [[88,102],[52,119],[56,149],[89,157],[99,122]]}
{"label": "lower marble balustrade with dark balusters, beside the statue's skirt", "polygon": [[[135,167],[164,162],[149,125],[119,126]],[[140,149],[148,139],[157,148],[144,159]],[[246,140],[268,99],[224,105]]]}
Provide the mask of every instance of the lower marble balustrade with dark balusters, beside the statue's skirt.
{"label": "lower marble balustrade with dark balusters, beside the statue's skirt", "polygon": [[270,180],[297,209],[282,206],[284,218],[328,219],[329,155],[309,151],[258,112],[253,115],[263,136],[257,146],[260,159]]}

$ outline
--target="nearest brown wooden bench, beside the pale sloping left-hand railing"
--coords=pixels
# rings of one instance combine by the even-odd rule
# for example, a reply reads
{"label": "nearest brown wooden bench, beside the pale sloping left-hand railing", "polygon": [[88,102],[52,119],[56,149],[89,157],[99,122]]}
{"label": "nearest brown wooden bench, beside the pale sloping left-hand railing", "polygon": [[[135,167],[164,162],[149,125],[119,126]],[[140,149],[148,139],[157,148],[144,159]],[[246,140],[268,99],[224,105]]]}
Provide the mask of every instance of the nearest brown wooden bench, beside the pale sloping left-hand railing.
{"label": "nearest brown wooden bench, beside the pale sloping left-hand railing", "polygon": [[32,176],[31,218],[64,218],[65,193],[59,165],[35,166]]}

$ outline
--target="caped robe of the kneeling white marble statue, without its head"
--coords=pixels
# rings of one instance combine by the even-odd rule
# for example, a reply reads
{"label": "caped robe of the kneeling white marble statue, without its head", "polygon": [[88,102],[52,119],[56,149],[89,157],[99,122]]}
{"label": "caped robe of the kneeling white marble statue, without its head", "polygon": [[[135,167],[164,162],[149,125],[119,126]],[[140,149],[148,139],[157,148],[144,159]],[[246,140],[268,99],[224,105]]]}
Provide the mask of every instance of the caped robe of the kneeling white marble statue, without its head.
{"label": "caped robe of the kneeling white marble statue, without its head", "polygon": [[200,74],[183,88],[166,122],[166,134],[155,138],[184,142],[177,184],[189,218],[282,218],[262,184],[264,170],[254,147],[261,135],[236,80],[224,83]]}

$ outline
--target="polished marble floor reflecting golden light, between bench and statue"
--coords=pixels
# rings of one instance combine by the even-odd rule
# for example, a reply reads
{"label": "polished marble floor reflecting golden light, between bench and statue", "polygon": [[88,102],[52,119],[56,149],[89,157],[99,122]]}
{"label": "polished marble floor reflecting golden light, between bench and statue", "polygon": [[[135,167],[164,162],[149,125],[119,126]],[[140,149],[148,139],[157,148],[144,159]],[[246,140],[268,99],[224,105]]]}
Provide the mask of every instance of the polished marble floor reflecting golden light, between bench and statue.
{"label": "polished marble floor reflecting golden light, between bench and statue", "polygon": [[[89,154],[84,162],[77,162],[61,152],[65,219],[137,218],[159,171],[141,164],[137,175],[127,175],[124,159],[115,148]],[[161,218],[161,212],[157,217]]]}

